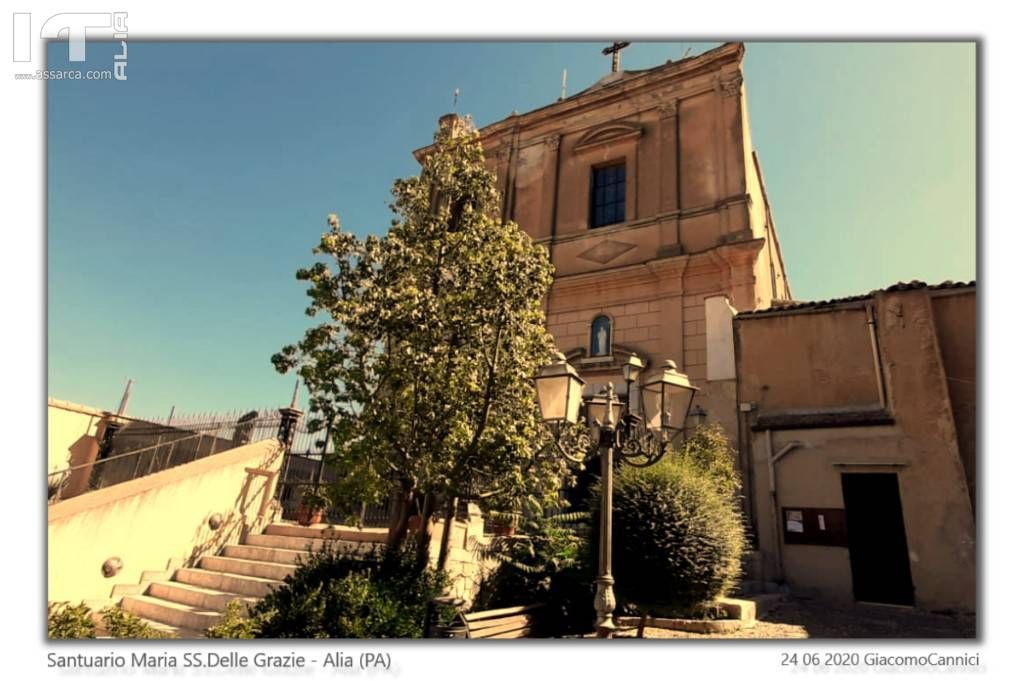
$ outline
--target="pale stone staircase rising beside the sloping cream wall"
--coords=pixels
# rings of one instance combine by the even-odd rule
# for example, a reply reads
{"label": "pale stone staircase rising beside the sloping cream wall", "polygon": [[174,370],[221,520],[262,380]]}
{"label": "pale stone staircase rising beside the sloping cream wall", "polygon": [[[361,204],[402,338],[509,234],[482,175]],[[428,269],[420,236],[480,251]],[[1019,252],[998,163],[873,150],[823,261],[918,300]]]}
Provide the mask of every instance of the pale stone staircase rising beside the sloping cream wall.
{"label": "pale stone staircase rising beside the sloping cream wall", "polygon": [[178,638],[203,638],[220,622],[232,600],[252,604],[280,586],[299,561],[326,543],[339,548],[370,547],[387,540],[386,529],[339,525],[271,523],[261,535],[204,556],[196,567],[179,567],[126,594],[121,607]]}

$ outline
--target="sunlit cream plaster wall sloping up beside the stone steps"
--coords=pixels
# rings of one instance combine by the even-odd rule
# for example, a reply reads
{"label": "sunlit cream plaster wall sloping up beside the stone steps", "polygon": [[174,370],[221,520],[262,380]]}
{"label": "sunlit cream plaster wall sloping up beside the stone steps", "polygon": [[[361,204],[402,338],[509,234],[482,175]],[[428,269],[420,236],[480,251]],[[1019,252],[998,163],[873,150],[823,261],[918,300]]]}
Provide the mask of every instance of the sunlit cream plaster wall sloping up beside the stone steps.
{"label": "sunlit cream plaster wall sloping up beside the stone steps", "polygon": [[[191,564],[262,530],[282,459],[267,439],[52,504],[48,600],[109,599],[144,571]],[[108,561],[121,568],[104,576]]]}

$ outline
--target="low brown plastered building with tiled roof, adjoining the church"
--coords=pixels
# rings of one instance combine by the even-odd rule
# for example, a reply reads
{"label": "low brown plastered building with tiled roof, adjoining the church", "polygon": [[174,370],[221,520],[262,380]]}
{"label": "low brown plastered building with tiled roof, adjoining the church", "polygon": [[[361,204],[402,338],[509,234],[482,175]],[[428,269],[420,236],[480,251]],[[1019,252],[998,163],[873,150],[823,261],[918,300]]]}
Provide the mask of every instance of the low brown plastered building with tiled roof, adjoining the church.
{"label": "low brown plastered building with tiled roof, adjoining the church", "polygon": [[734,322],[763,579],[975,609],[975,285],[896,285]]}

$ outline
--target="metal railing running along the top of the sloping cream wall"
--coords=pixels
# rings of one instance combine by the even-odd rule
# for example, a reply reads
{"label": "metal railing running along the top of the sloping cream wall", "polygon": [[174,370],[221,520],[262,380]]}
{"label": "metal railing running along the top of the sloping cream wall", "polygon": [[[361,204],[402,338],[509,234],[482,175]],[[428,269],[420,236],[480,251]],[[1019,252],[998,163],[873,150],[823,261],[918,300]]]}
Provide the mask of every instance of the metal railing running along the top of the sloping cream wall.
{"label": "metal railing running along the top of the sloping cream wall", "polygon": [[[47,476],[48,501],[126,482],[227,450],[275,438],[282,416],[276,410],[253,411],[220,420],[174,425],[114,419],[101,435],[95,461],[69,466]],[[221,417],[223,418],[223,417]]]}

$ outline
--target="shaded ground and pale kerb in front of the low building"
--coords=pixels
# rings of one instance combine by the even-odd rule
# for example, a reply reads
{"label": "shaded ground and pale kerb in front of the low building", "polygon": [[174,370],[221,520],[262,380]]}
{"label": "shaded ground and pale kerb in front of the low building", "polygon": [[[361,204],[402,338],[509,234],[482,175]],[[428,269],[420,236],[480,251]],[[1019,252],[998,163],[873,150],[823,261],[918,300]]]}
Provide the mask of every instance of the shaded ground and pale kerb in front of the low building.
{"label": "shaded ground and pale kerb in front of the low building", "polygon": [[[635,635],[635,630],[623,632]],[[753,629],[732,634],[691,634],[652,629],[644,638],[974,638],[973,615],[946,615],[910,608],[788,598],[759,613]]]}

